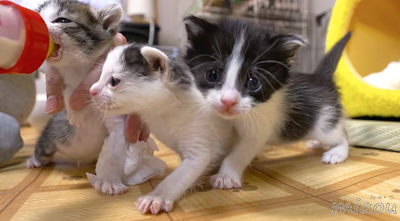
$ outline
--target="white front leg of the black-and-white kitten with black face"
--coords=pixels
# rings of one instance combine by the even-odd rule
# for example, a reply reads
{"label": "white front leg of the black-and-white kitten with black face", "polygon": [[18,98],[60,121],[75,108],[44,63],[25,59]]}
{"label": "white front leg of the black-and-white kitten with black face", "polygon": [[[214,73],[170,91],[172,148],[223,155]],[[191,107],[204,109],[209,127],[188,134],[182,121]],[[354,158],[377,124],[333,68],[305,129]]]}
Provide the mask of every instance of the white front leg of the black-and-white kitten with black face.
{"label": "white front leg of the black-and-white kitten with black face", "polygon": [[257,139],[240,139],[232,151],[223,159],[216,175],[211,176],[211,185],[214,188],[230,189],[241,187],[241,176],[244,169],[257,155],[263,142]]}

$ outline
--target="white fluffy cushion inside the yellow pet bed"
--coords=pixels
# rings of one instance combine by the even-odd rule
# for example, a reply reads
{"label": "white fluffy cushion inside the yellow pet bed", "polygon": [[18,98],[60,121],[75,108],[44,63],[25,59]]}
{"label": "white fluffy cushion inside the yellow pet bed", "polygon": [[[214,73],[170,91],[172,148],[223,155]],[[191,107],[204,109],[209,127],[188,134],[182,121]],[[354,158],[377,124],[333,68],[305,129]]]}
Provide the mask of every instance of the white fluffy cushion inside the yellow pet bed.
{"label": "white fluffy cushion inside the yellow pet bed", "polygon": [[364,76],[364,80],[380,89],[400,89],[400,61],[390,62],[382,71]]}

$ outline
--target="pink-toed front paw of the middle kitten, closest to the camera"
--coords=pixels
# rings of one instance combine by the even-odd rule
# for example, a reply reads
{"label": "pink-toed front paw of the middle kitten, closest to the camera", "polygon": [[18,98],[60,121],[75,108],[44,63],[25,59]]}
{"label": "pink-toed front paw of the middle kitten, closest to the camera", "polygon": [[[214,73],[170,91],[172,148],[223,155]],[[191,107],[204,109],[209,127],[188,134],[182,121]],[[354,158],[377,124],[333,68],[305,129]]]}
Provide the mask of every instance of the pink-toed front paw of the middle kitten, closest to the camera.
{"label": "pink-toed front paw of the middle kitten, closest to the camera", "polygon": [[150,212],[151,214],[157,214],[158,212],[164,211],[169,212],[173,207],[173,199],[162,197],[162,196],[151,196],[143,195],[140,196],[134,202],[137,210],[142,214]]}

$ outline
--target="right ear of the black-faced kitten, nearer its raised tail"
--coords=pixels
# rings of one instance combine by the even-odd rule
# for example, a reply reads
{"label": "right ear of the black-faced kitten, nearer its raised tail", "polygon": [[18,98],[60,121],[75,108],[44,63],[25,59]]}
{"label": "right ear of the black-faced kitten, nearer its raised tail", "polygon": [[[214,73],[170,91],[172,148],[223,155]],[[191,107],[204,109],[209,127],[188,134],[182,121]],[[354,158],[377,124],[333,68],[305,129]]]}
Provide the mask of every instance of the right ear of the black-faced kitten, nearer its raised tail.
{"label": "right ear of the black-faced kitten, nearer its raised tail", "polygon": [[293,62],[293,56],[296,51],[308,43],[304,36],[296,34],[278,34],[273,36],[271,41],[276,41],[280,49],[287,53],[287,62],[289,64]]}

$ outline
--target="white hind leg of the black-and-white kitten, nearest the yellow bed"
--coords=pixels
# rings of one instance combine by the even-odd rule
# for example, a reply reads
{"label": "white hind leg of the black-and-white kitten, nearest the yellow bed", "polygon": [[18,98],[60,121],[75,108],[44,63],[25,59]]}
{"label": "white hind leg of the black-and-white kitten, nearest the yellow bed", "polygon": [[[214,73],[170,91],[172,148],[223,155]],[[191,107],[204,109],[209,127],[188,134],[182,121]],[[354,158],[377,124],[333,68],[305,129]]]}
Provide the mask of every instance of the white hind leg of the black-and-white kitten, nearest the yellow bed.
{"label": "white hind leg of the black-and-white kitten, nearest the yellow bed", "polygon": [[318,137],[322,144],[331,146],[328,151],[323,153],[322,162],[335,164],[346,160],[349,146],[347,136],[341,123],[338,123],[335,128],[328,133],[323,133],[323,135],[318,135]]}

